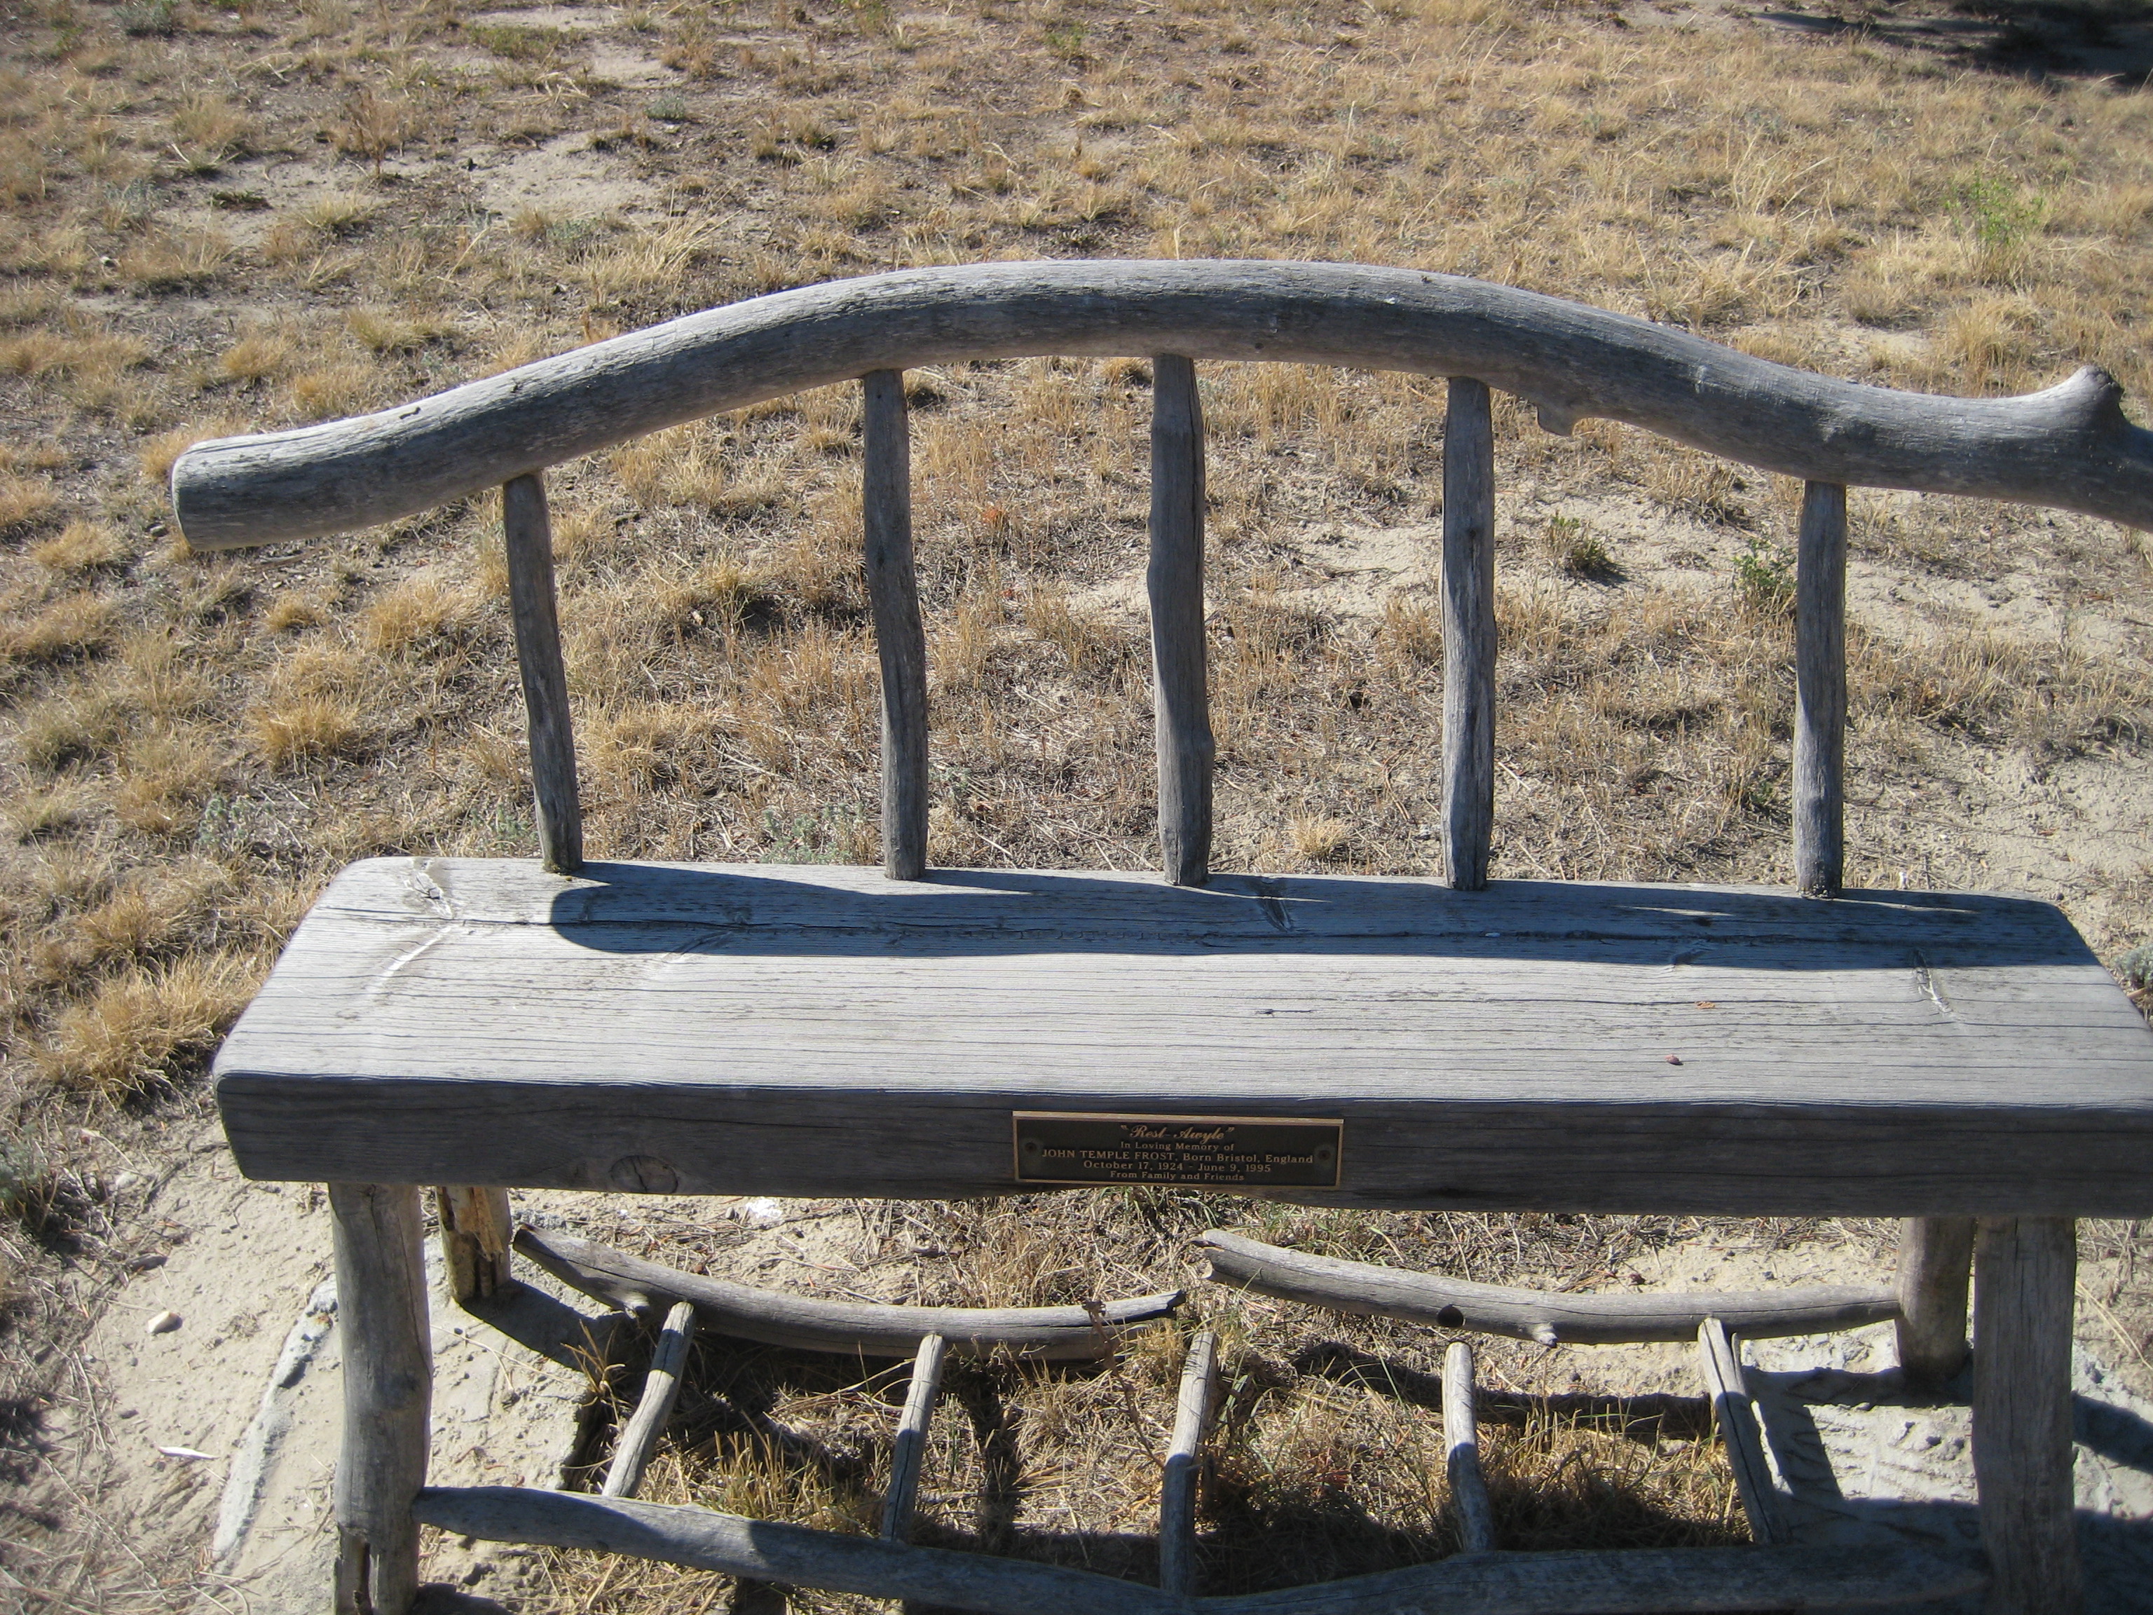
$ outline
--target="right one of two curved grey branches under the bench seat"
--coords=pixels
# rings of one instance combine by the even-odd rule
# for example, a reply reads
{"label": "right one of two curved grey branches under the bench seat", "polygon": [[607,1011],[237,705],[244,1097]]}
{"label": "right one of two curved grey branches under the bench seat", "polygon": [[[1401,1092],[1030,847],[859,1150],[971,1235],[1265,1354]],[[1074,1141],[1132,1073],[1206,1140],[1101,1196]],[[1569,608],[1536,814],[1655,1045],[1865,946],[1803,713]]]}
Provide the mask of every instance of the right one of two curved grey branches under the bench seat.
{"label": "right one of two curved grey branches under the bench seat", "polygon": [[1897,1292],[1888,1286],[1580,1296],[1339,1262],[1328,1255],[1283,1251],[1223,1230],[1204,1234],[1197,1245],[1210,1258],[1214,1279],[1257,1294],[1365,1318],[1402,1318],[1436,1329],[1537,1339],[1544,1346],[1697,1339],[1705,1318],[1720,1318],[1729,1329],[1770,1339],[1860,1329],[1899,1316]]}

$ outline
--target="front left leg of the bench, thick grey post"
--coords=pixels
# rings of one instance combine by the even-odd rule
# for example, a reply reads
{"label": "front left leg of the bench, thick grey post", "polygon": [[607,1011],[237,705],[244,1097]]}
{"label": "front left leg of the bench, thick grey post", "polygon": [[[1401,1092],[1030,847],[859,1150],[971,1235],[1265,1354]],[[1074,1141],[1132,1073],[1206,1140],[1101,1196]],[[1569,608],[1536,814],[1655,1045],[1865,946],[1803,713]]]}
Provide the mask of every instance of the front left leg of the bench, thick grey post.
{"label": "front left leg of the bench, thick grey post", "polygon": [[336,1615],[405,1615],[418,1596],[433,1339],[418,1189],[329,1184],[344,1445],[336,1458]]}

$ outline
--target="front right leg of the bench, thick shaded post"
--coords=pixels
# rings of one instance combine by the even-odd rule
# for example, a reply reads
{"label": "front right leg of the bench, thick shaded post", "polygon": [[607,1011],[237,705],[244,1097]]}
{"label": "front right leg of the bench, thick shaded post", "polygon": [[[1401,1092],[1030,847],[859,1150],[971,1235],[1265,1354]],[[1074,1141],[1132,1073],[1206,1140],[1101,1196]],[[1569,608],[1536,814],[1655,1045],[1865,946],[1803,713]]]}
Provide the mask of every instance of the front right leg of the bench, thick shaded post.
{"label": "front right leg of the bench, thick shaded post", "polygon": [[2071,1494],[2069,1217],[1983,1217],[1974,1247],[1974,1484],[1989,1555],[1983,1615],[2078,1615]]}

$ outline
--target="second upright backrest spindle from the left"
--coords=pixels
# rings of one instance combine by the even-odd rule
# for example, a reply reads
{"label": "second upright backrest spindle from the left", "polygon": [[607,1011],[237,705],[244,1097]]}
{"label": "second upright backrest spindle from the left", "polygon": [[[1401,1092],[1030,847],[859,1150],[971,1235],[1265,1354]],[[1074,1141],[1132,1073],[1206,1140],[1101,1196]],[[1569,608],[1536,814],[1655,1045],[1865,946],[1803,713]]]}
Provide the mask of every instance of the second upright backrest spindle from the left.
{"label": "second upright backrest spindle from the left", "polygon": [[904,375],[870,370],[859,388],[868,603],[883,661],[883,874],[917,881],[928,866],[928,642],[913,573],[913,448]]}

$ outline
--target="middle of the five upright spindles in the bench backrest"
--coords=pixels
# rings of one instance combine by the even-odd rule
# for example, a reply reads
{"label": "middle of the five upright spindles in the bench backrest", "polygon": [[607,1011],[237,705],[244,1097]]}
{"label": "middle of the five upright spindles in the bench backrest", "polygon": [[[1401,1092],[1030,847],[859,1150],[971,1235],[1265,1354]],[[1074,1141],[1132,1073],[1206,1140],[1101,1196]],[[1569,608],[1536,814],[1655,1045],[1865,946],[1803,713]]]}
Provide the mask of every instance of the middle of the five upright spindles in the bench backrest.
{"label": "middle of the five upright spindles in the bench backrest", "polygon": [[1212,730],[1204,657],[1204,403],[1197,370],[1152,357],[1152,702],[1158,855],[1173,885],[1210,874]]}

